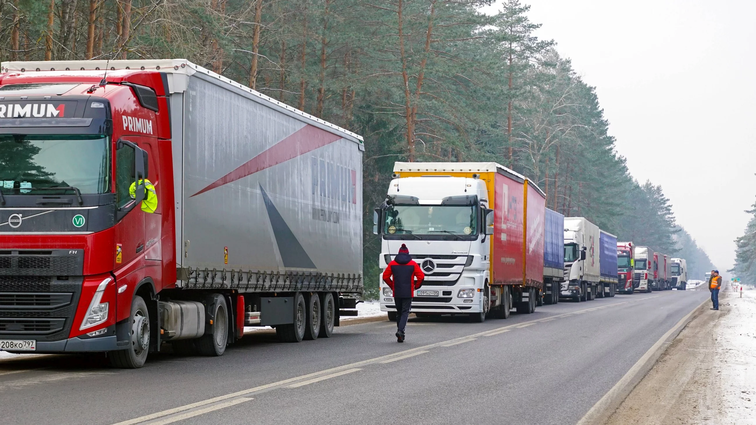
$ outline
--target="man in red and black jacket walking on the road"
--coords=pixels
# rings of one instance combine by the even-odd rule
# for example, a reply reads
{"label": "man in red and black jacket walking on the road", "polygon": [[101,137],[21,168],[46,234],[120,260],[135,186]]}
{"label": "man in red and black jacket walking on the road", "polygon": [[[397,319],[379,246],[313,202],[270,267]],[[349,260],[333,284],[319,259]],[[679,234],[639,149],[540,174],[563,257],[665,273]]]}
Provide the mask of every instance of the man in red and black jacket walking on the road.
{"label": "man in red and black jacket walking on the road", "polygon": [[401,244],[399,253],[383,271],[383,281],[394,293],[396,305],[396,342],[404,343],[404,327],[407,326],[407,316],[412,308],[412,297],[415,290],[423,285],[425,274],[420,265],[410,256],[407,245]]}

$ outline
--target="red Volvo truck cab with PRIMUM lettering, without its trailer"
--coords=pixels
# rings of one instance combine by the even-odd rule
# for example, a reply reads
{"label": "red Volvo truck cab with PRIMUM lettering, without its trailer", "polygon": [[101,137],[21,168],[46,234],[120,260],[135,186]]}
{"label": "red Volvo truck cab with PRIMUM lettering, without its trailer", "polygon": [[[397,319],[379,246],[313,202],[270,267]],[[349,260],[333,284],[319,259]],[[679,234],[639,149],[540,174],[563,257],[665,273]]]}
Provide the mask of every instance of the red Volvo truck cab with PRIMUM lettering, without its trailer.
{"label": "red Volvo truck cab with PRIMUM lettering, without its trailer", "polygon": [[[111,351],[131,332],[148,349],[144,318],[156,328],[157,314],[132,315],[132,294],[175,283],[165,83],[149,71],[103,76],[0,74],[0,155],[13,160],[0,170],[0,274],[18,290],[3,294],[0,349]],[[140,207],[146,181],[154,213]]]}

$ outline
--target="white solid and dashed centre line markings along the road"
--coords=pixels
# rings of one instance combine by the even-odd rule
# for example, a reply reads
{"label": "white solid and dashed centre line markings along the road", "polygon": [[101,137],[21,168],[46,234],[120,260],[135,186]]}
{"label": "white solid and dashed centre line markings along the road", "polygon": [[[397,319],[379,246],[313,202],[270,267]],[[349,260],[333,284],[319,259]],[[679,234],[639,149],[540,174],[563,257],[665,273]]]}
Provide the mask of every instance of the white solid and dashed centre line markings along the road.
{"label": "white solid and dashed centre line markings along the road", "polygon": [[[657,296],[661,296],[661,295],[657,295]],[[646,298],[631,299],[629,301],[617,302],[615,304],[612,304],[611,306],[612,307],[613,306],[620,306],[622,304],[627,304],[628,302],[645,301],[645,300],[648,300],[648,299],[655,298],[657,296],[649,296],[649,297],[646,297]],[[565,317],[565,316],[569,316],[569,315],[572,315],[572,313],[568,313],[568,314],[565,314],[565,315],[559,315],[559,316],[556,316],[556,317]],[[538,320],[542,320],[542,319],[538,319]],[[538,320],[534,320],[533,322],[536,322]],[[528,323],[528,322],[525,322],[525,323]],[[134,423],[146,422],[147,420],[157,419],[158,417],[168,416],[169,414],[175,414],[175,413],[178,413],[180,411],[187,411],[187,410],[191,410],[193,408],[198,408],[200,406],[210,405],[212,403],[221,402],[222,400],[234,399],[234,398],[239,397],[239,396],[246,396],[247,394],[252,394],[253,392],[259,392],[259,391],[263,391],[265,389],[271,389],[271,388],[274,388],[274,387],[277,387],[277,386],[283,386],[284,384],[293,383],[293,382],[296,382],[298,380],[302,380],[302,379],[305,379],[305,378],[317,377],[319,375],[327,374],[329,372],[343,371],[343,370],[348,369],[348,368],[355,368],[355,366],[370,365],[370,364],[373,364],[373,363],[377,363],[377,362],[386,360],[388,358],[393,358],[396,355],[404,355],[404,354],[409,354],[411,352],[422,351],[424,349],[431,349],[431,348],[438,347],[438,346],[444,346],[445,344],[452,343],[452,342],[455,342],[455,341],[461,341],[461,342],[466,343],[466,342],[470,341],[471,338],[474,339],[474,337],[482,337],[482,336],[485,336],[485,335],[487,335],[489,333],[496,333],[498,331],[502,331],[503,332],[504,330],[510,330],[511,328],[516,327],[517,325],[519,325],[519,324],[510,324],[510,325],[507,325],[507,326],[504,326],[504,327],[499,327],[499,328],[496,328],[496,329],[485,330],[485,331],[479,332],[479,333],[473,333],[472,335],[468,335],[468,336],[465,336],[465,337],[458,337],[458,338],[454,338],[452,340],[446,340],[446,341],[441,341],[441,342],[438,342],[438,343],[432,343],[432,344],[428,344],[426,346],[416,347],[414,349],[407,349],[407,350],[400,351],[400,352],[395,352],[395,353],[392,353],[392,354],[381,355],[380,357],[368,358],[367,360],[363,360],[363,361],[356,361],[355,363],[349,363],[348,365],[336,366],[335,368],[326,369],[324,371],[312,372],[311,374],[306,374],[306,375],[302,375],[302,376],[299,376],[299,377],[293,377],[293,378],[289,378],[289,379],[286,379],[286,380],[280,380],[280,381],[277,381],[277,382],[274,382],[274,383],[268,383],[268,384],[265,384],[265,385],[256,386],[256,387],[249,388],[249,389],[242,389],[240,391],[231,392],[231,393],[225,394],[223,396],[213,397],[212,399],[206,399],[206,400],[202,400],[200,402],[194,402],[194,403],[191,403],[191,404],[188,404],[188,405],[178,406],[177,408],[170,408],[170,409],[167,409],[167,410],[164,410],[164,411],[158,411],[158,412],[155,412],[153,414],[146,414],[146,415],[141,416],[141,417],[135,417],[134,419],[123,420],[122,422],[113,423],[113,425],[133,425]]]}

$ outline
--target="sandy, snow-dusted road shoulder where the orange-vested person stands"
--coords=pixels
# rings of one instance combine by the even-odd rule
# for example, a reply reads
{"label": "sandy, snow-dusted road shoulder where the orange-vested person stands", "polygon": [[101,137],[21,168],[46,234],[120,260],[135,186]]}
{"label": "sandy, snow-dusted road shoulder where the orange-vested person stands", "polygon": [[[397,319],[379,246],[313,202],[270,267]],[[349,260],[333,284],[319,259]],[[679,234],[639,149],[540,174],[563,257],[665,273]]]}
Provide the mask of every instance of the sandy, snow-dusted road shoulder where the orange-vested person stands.
{"label": "sandy, snow-dusted road shoulder where the orange-vested person stands", "polygon": [[[756,291],[699,309],[607,425],[748,423],[756,414]],[[750,418],[750,419],[748,419]]]}

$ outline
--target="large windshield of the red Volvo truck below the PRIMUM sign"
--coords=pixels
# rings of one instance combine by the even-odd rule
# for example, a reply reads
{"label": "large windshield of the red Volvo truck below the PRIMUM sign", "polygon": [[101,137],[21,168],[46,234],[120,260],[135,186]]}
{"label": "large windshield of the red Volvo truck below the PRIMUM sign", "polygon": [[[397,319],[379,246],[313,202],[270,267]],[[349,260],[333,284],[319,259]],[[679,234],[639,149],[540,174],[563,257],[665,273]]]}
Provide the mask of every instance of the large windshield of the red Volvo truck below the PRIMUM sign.
{"label": "large windshield of the red Volvo truck below the PRIMUM sign", "polygon": [[26,194],[32,192],[28,188],[64,186],[79,188],[82,194],[110,192],[110,138],[105,135],[0,135],[0,183],[4,194]]}

